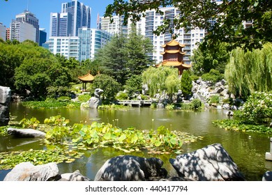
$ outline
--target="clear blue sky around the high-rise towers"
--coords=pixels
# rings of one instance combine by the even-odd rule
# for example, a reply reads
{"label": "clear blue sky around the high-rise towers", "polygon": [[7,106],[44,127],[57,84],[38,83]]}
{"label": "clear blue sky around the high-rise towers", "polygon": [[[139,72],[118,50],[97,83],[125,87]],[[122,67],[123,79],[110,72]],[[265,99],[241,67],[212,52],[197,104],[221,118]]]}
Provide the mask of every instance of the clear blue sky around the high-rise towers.
{"label": "clear blue sky around the high-rise towers", "polygon": [[[0,23],[7,28],[11,20],[15,20],[17,14],[29,10],[39,20],[41,29],[45,29],[47,37],[50,30],[50,13],[60,13],[61,3],[67,3],[72,0],[0,0]],[[107,5],[114,0],[79,0],[85,6],[91,7],[91,28],[96,28],[96,19],[99,13],[104,15]]]}

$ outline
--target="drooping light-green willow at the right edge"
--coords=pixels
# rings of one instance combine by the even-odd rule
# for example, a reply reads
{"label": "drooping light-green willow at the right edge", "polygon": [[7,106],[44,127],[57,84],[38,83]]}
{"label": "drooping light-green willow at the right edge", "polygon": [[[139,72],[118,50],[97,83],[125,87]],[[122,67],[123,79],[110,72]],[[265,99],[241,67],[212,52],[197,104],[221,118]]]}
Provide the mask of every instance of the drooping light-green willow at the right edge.
{"label": "drooping light-green willow at the right edge", "polygon": [[263,49],[244,52],[234,49],[226,66],[225,78],[229,91],[239,97],[247,97],[255,91],[272,90],[272,43]]}

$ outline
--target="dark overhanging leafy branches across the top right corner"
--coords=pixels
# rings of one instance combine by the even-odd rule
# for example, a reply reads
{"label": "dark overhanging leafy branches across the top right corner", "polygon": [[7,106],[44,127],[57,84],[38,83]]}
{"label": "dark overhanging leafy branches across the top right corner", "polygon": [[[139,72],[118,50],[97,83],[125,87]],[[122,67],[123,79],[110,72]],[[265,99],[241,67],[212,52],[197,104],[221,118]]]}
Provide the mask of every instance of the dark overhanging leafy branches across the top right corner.
{"label": "dark overhanging leafy branches across the top right corner", "polygon": [[[272,35],[269,33],[272,31],[272,1],[268,0],[223,0],[222,3],[211,0],[114,0],[107,6],[105,16],[123,15],[123,22],[126,24],[128,20],[139,21],[146,10],[155,9],[160,13],[159,8],[167,6],[179,8],[179,16],[174,20],[165,18],[163,25],[154,31],[157,35],[167,31],[172,33],[171,29],[181,27],[186,31],[199,27],[207,31],[204,47],[228,42],[229,50],[237,46],[243,49],[261,48],[265,42],[272,42]],[[211,20],[215,23],[210,22]],[[244,21],[250,21],[253,25],[244,28]]]}

